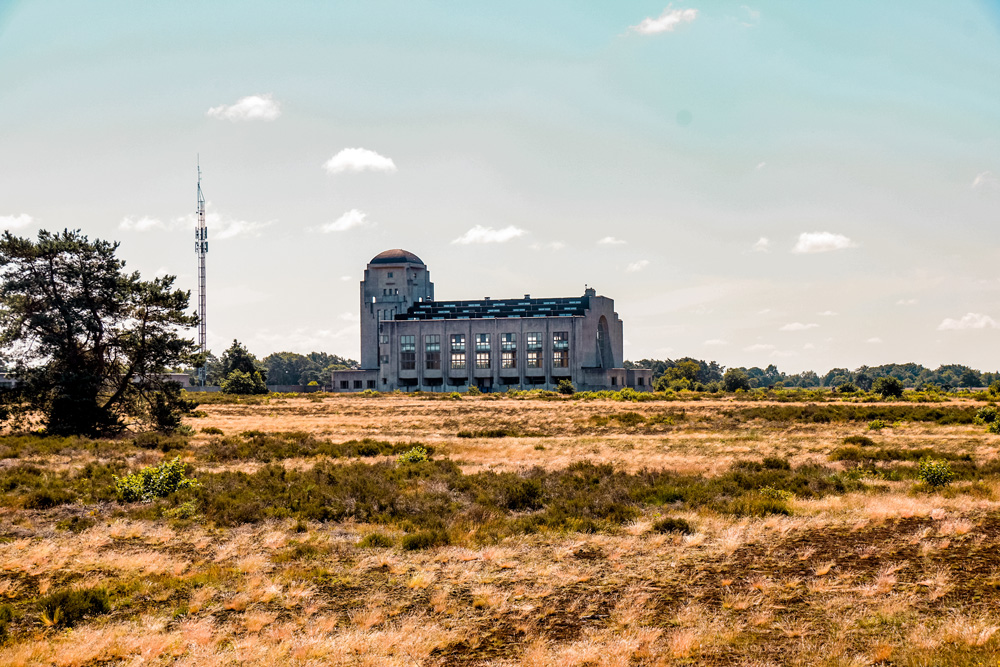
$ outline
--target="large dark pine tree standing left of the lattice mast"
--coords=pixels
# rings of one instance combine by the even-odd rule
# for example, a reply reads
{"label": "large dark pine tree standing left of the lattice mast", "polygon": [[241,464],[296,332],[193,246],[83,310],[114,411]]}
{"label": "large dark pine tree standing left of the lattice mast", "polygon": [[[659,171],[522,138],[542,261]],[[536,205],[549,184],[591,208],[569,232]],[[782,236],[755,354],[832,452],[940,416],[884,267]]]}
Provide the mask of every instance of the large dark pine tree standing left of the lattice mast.
{"label": "large dark pine tree standing left of the lattice mast", "polygon": [[121,432],[126,418],[176,425],[184,405],[162,373],[197,357],[178,336],[197,322],[189,293],[173,276],[126,273],[117,249],[69,230],[0,238],[0,343],[20,354],[0,416],[40,412],[50,434],[92,437]]}

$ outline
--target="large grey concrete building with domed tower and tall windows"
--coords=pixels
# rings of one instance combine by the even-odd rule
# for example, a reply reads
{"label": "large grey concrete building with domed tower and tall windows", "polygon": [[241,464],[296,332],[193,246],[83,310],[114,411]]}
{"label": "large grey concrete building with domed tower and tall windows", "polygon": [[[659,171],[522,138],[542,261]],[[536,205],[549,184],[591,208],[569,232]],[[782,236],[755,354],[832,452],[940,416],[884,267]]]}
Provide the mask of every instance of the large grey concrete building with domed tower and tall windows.
{"label": "large grey concrete building with domed tower and tall windows", "polygon": [[361,281],[361,367],[334,371],[333,391],[652,389],[652,371],[622,367],[614,301],[582,296],[478,301],[434,298],[412,252],[376,255]]}

